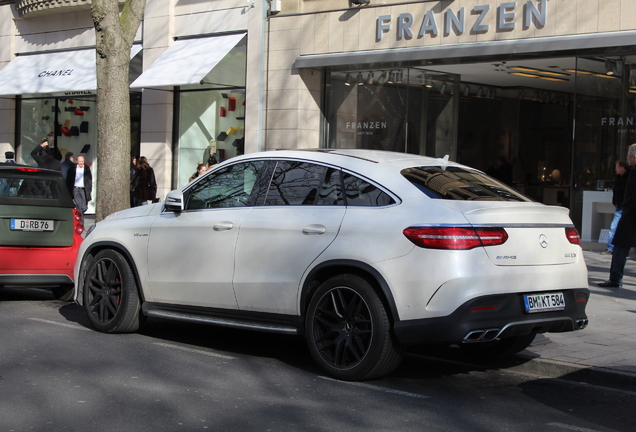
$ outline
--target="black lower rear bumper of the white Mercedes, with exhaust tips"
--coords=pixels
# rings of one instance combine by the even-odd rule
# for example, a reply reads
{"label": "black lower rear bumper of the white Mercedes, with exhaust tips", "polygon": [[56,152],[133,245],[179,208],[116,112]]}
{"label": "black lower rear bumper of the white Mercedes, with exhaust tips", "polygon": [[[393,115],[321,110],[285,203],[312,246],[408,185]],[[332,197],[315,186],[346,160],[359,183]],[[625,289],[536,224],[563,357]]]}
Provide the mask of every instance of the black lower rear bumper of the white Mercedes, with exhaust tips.
{"label": "black lower rear bumper of the white Mercedes, with exhaust tips", "polygon": [[[543,293],[539,291],[537,293]],[[526,313],[523,295],[499,294],[472,299],[445,317],[399,321],[394,324],[404,345],[488,342],[533,332],[567,332],[587,326],[587,288],[561,290],[566,308],[561,311]],[[496,306],[496,309],[490,309]]]}

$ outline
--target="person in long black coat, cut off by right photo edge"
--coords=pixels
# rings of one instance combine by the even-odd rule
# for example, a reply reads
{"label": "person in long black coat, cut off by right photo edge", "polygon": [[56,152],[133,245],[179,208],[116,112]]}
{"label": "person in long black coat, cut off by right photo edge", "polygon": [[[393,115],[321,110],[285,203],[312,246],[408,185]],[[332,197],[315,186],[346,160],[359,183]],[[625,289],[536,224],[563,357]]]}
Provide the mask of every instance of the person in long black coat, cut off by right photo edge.
{"label": "person in long black coat, cut off by right photo edge", "polygon": [[610,278],[597,284],[603,288],[620,288],[623,286],[623,272],[625,271],[627,255],[632,246],[636,246],[636,144],[629,146],[627,162],[631,168],[627,174],[623,214],[618,220],[616,234],[612,240],[614,251],[612,252],[612,264],[610,265]]}

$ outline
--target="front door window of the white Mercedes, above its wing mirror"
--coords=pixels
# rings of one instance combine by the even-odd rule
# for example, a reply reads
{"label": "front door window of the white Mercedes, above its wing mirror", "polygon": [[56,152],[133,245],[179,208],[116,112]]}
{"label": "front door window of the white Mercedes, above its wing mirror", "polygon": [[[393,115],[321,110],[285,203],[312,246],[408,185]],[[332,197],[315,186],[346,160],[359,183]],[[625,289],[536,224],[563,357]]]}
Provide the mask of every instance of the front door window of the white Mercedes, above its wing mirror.
{"label": "front door window of the white Mercedes, above its wing mirror", "polygon": [[187,192],[185,210],[246,207],[260,188],[264,161],[237,163],[211,173]]}

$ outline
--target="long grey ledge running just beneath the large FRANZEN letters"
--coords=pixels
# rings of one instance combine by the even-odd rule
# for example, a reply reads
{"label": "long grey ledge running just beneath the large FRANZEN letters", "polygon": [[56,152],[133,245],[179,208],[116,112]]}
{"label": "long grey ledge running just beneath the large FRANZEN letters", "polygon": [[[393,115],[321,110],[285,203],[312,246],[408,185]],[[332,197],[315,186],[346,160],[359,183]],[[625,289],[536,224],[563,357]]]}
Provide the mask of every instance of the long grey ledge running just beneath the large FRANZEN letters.
{"label": "long grey ledge running just beneath the large FRANZEN letters", "polygon": [[628,45],[636,45],[636,31],[630,30],[596,33],[593,35],[553,36],[494,42],[354,51],[334,54],[313,54],[298,57],[294,62],[293,68],[318,68],[352,64],[410,62],[444,58],[571,51]]}

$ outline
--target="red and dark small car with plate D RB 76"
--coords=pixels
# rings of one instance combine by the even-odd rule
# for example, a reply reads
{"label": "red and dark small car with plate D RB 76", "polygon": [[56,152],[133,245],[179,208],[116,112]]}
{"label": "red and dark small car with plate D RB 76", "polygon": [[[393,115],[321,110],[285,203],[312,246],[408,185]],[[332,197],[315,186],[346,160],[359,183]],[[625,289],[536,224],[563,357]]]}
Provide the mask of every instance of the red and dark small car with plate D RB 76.
{"label": "red and dark small car with plate D RB 76", "polygon": [[47,286],[70,300],[81,221],[61,172],[0,163],[0,288]]}

